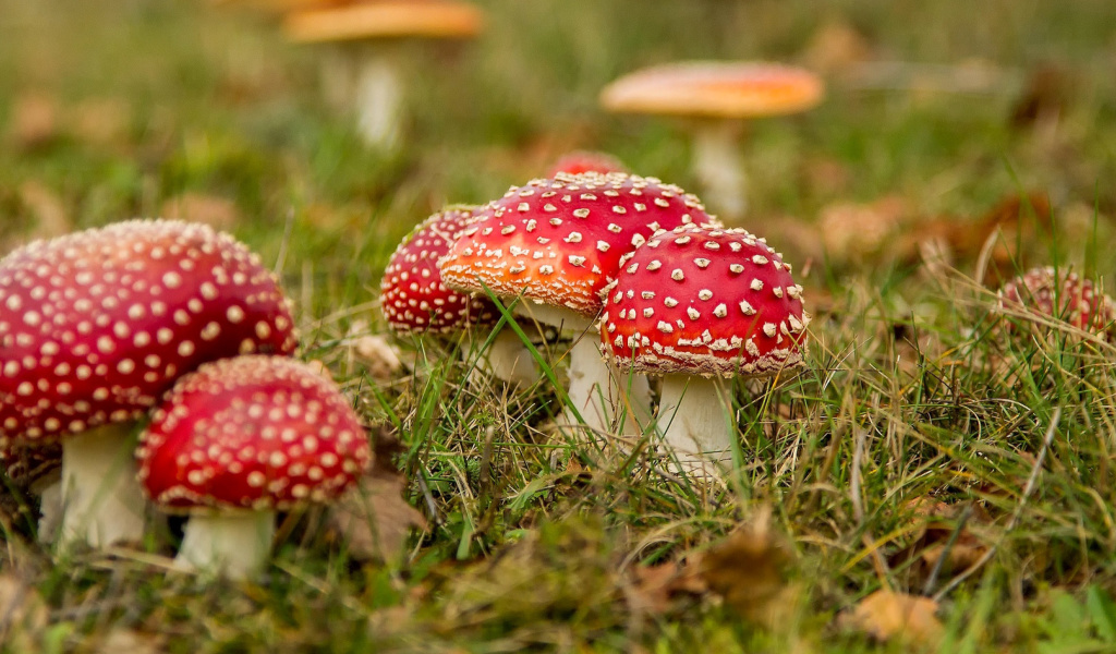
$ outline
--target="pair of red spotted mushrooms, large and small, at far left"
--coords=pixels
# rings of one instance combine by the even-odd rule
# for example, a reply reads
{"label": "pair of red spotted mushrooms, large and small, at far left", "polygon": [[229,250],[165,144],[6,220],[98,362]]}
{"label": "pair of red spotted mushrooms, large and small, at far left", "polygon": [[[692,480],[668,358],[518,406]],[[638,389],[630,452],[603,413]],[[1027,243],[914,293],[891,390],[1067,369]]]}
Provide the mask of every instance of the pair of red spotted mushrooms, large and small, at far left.
{"label": "pair of red spotted mushrooms, large and small, at far left", "polygon": [[40,496],[39,539],[138,541],[150,500],[190,516],[181,567],[260,570],[275,512],[337,497],[372,458],[296,346],[276,277],[203,224],[125,221],[0,260],[0,461]]}

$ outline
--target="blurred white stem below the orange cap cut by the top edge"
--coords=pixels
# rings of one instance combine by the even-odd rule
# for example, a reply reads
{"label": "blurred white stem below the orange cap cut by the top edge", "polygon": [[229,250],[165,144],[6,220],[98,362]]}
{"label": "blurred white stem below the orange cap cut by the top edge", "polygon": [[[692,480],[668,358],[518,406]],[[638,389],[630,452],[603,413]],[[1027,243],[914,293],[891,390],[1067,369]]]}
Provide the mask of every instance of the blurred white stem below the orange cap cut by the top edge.
{"label": "blurred white stem below the orange cap cut by the top edge", "polygon": [[395,150],[403,119],[403,81],[398,68],[389,52],[375,46],[356,48],[354,56],[357,128],[368,145]]}

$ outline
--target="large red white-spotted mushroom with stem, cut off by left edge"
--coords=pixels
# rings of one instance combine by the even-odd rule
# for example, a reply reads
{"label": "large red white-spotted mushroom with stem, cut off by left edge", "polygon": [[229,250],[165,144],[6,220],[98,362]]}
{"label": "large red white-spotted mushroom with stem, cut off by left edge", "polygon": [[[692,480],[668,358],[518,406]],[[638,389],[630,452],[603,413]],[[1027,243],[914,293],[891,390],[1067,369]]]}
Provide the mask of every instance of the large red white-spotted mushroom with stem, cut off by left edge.
{"label": "large red white-spotted mushroom with stem, cut off by left edge", "polygon": [[135,421],[204,362],[295,345],[275,276],[209,227],[135,220],[30,243],[0,260],[0,448],[61,440],[65,544],[136,540]]}

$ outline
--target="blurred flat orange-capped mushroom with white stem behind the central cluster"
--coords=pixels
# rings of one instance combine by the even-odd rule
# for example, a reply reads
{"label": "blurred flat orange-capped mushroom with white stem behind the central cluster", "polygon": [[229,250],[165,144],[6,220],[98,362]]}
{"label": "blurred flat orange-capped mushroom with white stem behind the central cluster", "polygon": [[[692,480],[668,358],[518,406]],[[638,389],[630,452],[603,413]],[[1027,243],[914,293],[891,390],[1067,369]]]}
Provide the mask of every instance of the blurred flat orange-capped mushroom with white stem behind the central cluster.
{"label": "blurred flat orange-capped mushroom with white stem behind the central cluster", "polygon": [[747,210],[740,166],[741,121],[804,112],[821,100],[821,80],[802,68],[749,61],[687,61],[637,70],[600,93],[616,113],[693,118],[694,172],[702,195],[733,219]]}

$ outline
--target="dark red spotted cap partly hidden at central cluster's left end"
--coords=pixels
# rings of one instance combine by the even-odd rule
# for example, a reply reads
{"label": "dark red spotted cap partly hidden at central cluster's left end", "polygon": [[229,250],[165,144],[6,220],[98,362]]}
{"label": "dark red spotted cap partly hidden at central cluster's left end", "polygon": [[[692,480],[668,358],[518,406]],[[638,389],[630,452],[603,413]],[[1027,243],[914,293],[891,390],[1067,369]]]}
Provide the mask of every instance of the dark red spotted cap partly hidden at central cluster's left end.
{"label": "dark red spotted cap partly hidden at central cluster's left end", "polygon": [[473,215],[473,208],[450,208],[426,219],[392,254],[379,282],[381,308],[401,334],[461,331],[494,323],[496,306],[442,283],[437,260],[450,251]]}

